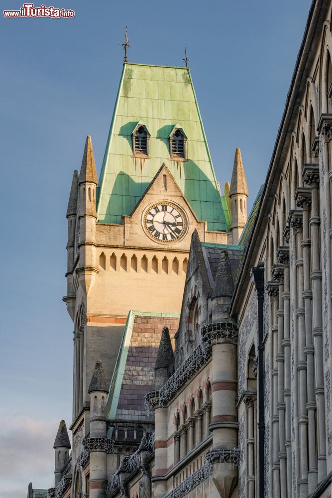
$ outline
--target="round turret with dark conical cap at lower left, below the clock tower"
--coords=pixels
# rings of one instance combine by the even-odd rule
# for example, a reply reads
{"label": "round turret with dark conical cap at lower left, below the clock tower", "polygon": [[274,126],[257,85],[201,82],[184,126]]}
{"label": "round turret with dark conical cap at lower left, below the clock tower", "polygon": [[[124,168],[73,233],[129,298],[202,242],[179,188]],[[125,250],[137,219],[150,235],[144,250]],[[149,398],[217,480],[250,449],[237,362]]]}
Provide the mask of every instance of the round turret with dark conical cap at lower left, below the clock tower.
{"label": "round turret with dark conical cap at lower left, below the clock tower", "polygon": [[106,396],[109,392],[103,363],[98,360],[89,386],[90,394],[90,498],[104,498],[107,483]]}

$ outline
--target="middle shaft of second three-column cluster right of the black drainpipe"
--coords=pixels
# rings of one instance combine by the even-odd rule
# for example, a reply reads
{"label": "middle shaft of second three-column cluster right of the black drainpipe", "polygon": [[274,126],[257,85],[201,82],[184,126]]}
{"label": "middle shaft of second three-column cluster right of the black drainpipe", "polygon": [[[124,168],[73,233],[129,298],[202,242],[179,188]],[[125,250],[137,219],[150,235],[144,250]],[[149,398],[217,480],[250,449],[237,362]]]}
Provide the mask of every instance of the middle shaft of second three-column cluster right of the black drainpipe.
{"label": "middle shaft of second three-column cluster right of the black drainpipe", "polygon": [[306,345],[304,354],[307,359],[307,411],[308,411],[308,493],[312,493],[317,486],[317,458],[316,458],[316,398],[315,398],[315,370],[314,345],[312,325],[312,291],[310,280],[310,228],[309,215],[311,206],[311,192],[308,188],[298,188],[296,204],[303,209],[303,235],[301,247],[303,249],[303,293],[305,309]]}

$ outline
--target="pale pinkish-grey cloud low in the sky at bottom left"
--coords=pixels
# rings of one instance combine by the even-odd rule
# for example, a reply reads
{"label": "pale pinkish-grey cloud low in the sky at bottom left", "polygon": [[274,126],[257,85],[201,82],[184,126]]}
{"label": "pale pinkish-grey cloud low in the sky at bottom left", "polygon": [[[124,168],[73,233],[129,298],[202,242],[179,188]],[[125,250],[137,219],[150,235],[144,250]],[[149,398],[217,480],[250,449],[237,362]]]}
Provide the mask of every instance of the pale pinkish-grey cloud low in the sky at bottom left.
{"label": "pale pinkish-grey cloud low in the sky at bottom left", "polygon": [[1,422],[0,498],[25,498],[30,481],[34,488],[52,486],[58,423],[28,416]]}

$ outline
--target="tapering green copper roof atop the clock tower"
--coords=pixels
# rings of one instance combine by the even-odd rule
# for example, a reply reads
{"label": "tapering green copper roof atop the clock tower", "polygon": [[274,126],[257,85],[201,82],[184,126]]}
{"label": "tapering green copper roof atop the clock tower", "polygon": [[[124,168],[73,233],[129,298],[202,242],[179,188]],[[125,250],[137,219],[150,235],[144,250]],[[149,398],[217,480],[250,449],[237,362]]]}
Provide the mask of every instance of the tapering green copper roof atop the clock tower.
{"label": "tapering green copper roof atop the clock tower", "polygon": [[[146,159],[132,157],[138,122],[151,135]],[[184,162],[170,159],[168,137],[175,125],[187,136]],[[227,231],[227,202],[219,193],[189,69],[124,64],[98,186],[98,221],[121,223],[121,215],[130,215],[163,162],[198,219],[209,230]]]}

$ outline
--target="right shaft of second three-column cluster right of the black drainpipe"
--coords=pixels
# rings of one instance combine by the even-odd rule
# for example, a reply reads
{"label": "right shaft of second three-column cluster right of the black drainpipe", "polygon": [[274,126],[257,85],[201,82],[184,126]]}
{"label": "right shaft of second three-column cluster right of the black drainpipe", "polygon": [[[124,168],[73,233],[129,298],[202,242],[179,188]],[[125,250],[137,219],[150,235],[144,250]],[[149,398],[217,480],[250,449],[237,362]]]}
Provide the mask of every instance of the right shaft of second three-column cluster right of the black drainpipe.
{"label": "right shaft of second three-column cluster right of the black drainpipe", "polygon": [[312,271],[313,290],[313,335],[315,349],[317,422],[318,422],[318,482],[327,473],[326,467],[326,431],[325,431],[325,399],[324,399],[324,365],[323,365],[323,316],[322,316],[322,270],[320,251],[319,216],[319,166],[304,166],[304,183],[311,186],[312,211],[310,218],[312,234]]}

